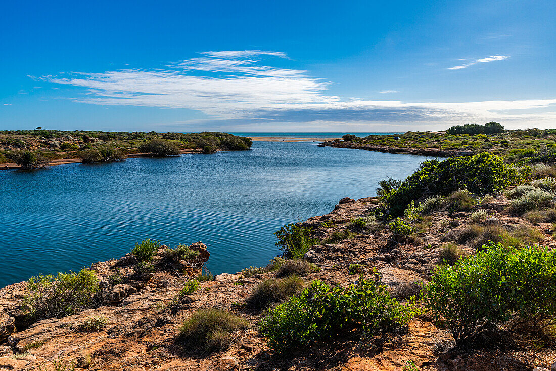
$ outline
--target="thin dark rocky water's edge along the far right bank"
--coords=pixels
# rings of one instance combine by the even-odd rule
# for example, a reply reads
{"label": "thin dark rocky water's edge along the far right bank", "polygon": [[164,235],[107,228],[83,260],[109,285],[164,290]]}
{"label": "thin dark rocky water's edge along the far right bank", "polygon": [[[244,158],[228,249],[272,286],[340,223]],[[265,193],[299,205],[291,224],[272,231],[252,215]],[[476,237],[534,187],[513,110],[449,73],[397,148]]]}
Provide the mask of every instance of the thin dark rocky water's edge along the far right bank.
{"label": "thin dark rocky water's edge along the far right bank", "polygon": [[399,148],[399,147],[391,147],[389,145],[373,145],[373,144],[357,143],[354,141],[327,140],[320,143],[319,146],[364,149],[373,152],[410,154],[410,155],[429,156],[429,157],[461,157],[461,156],[470,156],[473,154],[469,150],[440,149],[440,148],[409,148],[409,147]]}

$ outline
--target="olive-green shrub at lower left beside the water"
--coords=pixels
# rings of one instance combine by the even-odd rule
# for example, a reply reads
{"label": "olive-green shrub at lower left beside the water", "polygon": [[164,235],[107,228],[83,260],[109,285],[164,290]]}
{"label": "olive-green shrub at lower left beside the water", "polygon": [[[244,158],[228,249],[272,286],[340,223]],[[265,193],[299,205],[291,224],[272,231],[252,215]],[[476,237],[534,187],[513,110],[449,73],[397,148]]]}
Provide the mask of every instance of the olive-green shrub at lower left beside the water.
{"label": "olive-green shrub at lower left beside the water", "polygon": [[28,315],[37,321],[62,318],[86,309],[98,290],[98,280],[92,271],[82,269],[79,273],[31,277],[27,288],[29,294],[24,301],[31,307]]}

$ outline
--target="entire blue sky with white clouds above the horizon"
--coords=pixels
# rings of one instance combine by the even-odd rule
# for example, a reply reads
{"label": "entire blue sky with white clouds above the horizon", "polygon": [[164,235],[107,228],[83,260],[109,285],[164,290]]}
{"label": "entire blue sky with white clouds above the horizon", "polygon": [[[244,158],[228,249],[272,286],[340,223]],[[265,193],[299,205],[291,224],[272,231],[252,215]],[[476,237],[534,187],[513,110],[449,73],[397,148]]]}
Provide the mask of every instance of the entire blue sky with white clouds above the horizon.
{"label": "entire blue sky with white clouds above the horizon", "polygon": [[556,2],[3,2],[0,129],[556,128]]}

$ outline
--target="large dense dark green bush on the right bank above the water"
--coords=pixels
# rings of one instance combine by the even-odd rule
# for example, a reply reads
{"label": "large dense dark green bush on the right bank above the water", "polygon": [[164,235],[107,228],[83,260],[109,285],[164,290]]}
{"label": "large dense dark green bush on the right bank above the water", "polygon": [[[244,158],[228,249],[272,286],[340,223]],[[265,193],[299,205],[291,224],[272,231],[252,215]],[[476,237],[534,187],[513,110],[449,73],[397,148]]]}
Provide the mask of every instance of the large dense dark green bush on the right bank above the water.
{"label": "large dense dark green bush on the right bank above the water", "polygon": [[390,213],[398,216],[406,205],[426,194],[447,195],[459,189],[471,193],[497,193],[514,184],[519,174],[506,165],[502,158],[489,153],[429,160],[409,175],[395,191],[386,194],[384,201]]}

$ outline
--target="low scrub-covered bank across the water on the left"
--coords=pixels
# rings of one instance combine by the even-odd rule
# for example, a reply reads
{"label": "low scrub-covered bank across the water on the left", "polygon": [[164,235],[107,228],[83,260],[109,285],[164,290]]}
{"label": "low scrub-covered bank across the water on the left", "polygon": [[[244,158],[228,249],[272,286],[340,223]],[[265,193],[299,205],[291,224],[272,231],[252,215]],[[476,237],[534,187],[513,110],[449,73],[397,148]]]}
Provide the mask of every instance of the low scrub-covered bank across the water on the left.
{"label": "low scrub-covered bank across the water on the left", "polygon": [[37,168],[53,159],[98,163],[123,160],[136,153],[168,156],[183,149],[201,149],[203,153],[247,150],[251,144],[250,138],[213,131],[0,130],[0,164],[15,162],[24,168]]}

